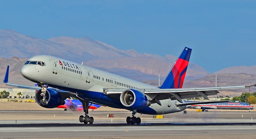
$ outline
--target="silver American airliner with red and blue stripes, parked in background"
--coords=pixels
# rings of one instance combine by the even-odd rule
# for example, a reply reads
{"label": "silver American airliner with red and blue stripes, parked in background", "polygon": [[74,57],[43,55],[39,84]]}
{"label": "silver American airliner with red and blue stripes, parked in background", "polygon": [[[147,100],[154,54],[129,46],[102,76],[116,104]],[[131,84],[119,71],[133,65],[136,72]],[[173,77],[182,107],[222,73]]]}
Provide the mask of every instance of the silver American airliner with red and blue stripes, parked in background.
{"label": "silver American airliner with red and blue stripes, parked in background", "polygon": [[225,110],[253,110],[254,107],[246,102],[222,102],[222,103],[208,103],[208,104],[195,104],[189,105],[189,109],[225,109]]}

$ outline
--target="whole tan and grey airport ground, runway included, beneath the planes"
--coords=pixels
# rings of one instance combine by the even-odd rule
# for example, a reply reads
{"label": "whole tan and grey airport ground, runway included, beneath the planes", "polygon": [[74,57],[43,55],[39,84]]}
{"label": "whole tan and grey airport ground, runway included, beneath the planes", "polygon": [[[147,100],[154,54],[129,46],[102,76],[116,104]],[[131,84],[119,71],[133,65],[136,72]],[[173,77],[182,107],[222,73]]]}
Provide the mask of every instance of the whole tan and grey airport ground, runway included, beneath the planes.
{"label": "whole tan and grey airport ground, runway included, beneath the planes", "polygon": [[[141,125],[126,124],[130,111],[100,107],[90,110],[94,124],[78,117],[84,112],[46,109],[33,102],[0,102],[0,138],[83,139],[219,139],[256,138],[256,111],[209,110],[165,114],[164,119],[137,113]],[[114,114],[114,118],[107,117]],[[127,131],[126,131],[127,129]]]}

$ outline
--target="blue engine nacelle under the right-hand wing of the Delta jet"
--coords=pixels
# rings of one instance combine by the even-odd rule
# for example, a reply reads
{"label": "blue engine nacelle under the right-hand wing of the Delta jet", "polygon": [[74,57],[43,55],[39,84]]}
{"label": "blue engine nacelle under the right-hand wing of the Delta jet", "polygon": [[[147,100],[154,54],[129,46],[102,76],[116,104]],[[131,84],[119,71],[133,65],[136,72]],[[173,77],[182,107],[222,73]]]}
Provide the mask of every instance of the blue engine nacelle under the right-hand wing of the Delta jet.
{"label": "blue engine nacelle under the right-hand wing of the Delta jet", "polygon": [[133,110],[142,109],[151,105],[144,93],[134,89],[123,91],[120,95],[120,101],[126,108]]}

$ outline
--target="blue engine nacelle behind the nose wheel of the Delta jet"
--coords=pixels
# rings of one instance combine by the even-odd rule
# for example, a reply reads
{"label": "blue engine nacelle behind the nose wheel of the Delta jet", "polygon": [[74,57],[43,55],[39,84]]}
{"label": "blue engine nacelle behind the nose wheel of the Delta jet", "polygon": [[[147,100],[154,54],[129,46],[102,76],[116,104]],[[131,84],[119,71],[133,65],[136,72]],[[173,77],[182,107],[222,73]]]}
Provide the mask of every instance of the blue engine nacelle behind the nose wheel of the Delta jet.
{"label": "blue engine nacelle behind the nose wheel of the Delta jet", "polygon": [[63,100],[61,95],[58,92],[56,92],[52,89],[46,89],[45,99],[48,100],[48,103],[47,104],[41,104],[40,100],[42,100],[42,99],[43,99],[43,96],[41,96],[41,89],[40,89],[36,92],[36,102],[40,106],[42,106],[44,108],[56,108],[59,105],[64,105],[65,104],[65,101]]}

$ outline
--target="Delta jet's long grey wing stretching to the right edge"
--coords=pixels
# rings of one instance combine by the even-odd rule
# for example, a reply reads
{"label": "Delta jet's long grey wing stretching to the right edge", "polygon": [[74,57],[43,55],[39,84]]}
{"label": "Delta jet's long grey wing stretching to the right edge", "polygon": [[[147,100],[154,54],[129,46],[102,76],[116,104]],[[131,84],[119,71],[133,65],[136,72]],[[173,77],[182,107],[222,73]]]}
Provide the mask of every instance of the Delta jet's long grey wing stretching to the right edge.
{"label": "Delta jet's long grey wing stretching to the right edge", "polygon": [[[203,97],[209,100],[208,96],[216,95],[221,90],[229,89],[243,89],[246,87],[252,87],[254,85],[243,85],[243,86],[228,86],[228,87],[208,87],[208,88],[178,88],[178,89],[134,89],[143,92],[149,96],[152,100],[155,100],[159,103],[159,100],[171,99],[178,100],[183,103],[182,99],[194,98],[194,97]],[[121,94],[126,89],[103,89],[103,92],[107,95],[111,94]],[[133,90],[133,89],[130,89]],[[209,102],[207,102],[209,103]]]}

